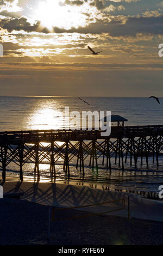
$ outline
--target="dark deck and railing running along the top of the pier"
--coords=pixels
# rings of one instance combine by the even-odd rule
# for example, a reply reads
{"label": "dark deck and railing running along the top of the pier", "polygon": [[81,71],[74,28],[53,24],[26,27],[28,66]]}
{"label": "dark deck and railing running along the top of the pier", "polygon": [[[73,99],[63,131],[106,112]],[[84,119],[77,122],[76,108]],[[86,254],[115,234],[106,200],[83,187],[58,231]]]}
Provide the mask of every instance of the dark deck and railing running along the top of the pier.
{"label": "dark deck and railing running along the top of the pier", "polygon": [[[18,142],[18,140],[24,142],[35,143],[51,142],[51,139],[55,141],[66,141],[66,139],[72,141],[78,141],[81,139],[104,139],[108,136],[101,136],[102,130],[30,130],[30,131],[5,131],[0,132],[0,143],[6,141]],[[159,136],[163,135],[163,125],[143,125],[143,126],[112,126],[110,138],[129,138],[140,136]]]}

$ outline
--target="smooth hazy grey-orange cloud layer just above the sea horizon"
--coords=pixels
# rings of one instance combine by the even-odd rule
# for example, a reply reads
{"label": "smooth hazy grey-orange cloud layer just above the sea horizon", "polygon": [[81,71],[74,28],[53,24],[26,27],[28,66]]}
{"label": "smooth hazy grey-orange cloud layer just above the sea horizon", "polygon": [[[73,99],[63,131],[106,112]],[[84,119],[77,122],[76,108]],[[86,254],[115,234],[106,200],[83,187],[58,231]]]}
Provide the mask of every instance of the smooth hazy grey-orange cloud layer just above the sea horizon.
{"label": "smooth hazy grey-orange cloud layer just above the sea horizon", "polygon": [[93,69],[91,63],[85,68],[83,63],[76,66],[0,63],[1,95],[162,96],[162,64],[160,69],[157,64],[141,64],[140,68],[139,64],[124,63],[101,63]]}

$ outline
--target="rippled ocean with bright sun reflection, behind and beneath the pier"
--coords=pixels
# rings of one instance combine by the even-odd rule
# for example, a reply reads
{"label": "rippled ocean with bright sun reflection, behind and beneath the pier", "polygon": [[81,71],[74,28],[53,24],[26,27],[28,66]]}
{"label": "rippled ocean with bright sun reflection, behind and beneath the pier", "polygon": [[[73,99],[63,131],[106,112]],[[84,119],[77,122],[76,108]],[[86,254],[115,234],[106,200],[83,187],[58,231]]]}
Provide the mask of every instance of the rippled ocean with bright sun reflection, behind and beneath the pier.
{"label": "rippled ocean with bright sun reflection, behind and beneath the pier", "polygon": [[[154,99],[148,97],[83,97],[90,103],[87,105],[78,97],[41,97],[41,96],[0,96],[0,130],[1,131],[21,131],[21,130],[48,130],[62,129],[62,119],[60,113],[65,111],[65,107],[70,108],[70,112],[78,111],[111,111],[111,114],[118,114],[128,119],[125,125],[160,125],[163,124],[163,98],[160,98],[160,105]],[[71,162],[68,179],[62,163],[56,166],[57,181],[76,182],[77,184],[96,184],[97,186],[109,186],[110,188],[137,189],[146,191],[158,191],[158,187],[163,184],[163,156],[159,156],[159,167],[152,163],[149,157],[149,168],[146,163],[137,166],[137,169],[129,166],[128,163],[121,169],[112,163],[112,172],[106,170],[99,164],[98,174],[92,172],[85,161],[85,175],[80,174],[76,169],[76,163]],[[0,171],[1,172],[1,171]],[[7,169],[7,178],[18,176],[18,167],[11,163]],[[34,175],[34,164],[26,163],[23,166],[23,175],[32,178]],[[40,175],[42,180],[51,181],[49,164],[40,164]]]}

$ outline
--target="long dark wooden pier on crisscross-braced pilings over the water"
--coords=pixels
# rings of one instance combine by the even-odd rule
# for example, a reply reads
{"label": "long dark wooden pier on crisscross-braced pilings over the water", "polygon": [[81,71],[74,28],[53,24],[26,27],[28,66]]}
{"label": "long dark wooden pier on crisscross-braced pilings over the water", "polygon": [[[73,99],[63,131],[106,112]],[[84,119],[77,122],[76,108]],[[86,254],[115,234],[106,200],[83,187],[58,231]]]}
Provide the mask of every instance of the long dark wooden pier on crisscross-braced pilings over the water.
{"label": "long dark wooden pier on crisscross-braced pilings over the water", "polygon": [[[62,143],[58,143],[62,142]],[[48,143],[47,145],[43,143]],[[98,172],[101,159],[110,172],[111,159],[121,167],[122,172],[127,161],[137,168],[149,157],[159,166],[159,155],[163,150],[163,125],[111,127],[111,135],[101,137],[101,131],[62,131],[35,130],[0,132],[0,164],[5,182],[7,166],[14,162],[20,167],[20,179],[23,180],[23,166],[34,163],[34,172],[39,176],[39,164],[49,161],[49,171],[55,177],[55,165],[63,160],[63,169],[71,175],[71,160],[76,161],[76,168],[84,175],[84,161],[89,158],[89,165]]]}

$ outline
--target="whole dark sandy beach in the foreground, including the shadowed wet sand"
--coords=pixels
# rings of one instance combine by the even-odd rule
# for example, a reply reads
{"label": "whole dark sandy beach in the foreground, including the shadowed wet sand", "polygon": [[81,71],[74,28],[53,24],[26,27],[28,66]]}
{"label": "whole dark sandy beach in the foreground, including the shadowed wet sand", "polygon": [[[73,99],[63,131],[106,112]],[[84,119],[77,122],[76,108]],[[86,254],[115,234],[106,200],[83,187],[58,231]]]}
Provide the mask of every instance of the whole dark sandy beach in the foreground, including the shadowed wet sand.
{"label": "whole dark sandy beach in the foreground, including the shadowed wet sand", "polygon": [[[23,192],[21,199],[4,198],[1,204],[1,245],[46,245],[48,240],[48,210],[99,204],[126,199],[125,209],[51,223],[51,245],[161,245],[162,202],[130,195],[102,191],[86,186],[51,184],[50,182],[22,183],[12,180],[4,185],[4,193]],[[55,211],[55,219],[82,217],[121,208],[122,202],[91,206],[78,210]]]}

